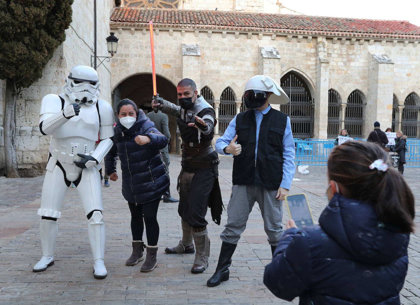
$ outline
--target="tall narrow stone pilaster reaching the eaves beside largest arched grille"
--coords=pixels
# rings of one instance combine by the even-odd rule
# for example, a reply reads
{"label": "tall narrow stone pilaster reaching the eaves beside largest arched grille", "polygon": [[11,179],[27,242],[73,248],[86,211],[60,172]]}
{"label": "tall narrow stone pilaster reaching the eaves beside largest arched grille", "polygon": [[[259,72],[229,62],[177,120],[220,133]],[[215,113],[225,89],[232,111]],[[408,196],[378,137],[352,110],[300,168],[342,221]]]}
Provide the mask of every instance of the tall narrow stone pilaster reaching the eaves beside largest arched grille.
{"label": "tall narrow stone pilaster reaching the eaves beside largest arched grille", "polygon": [[326,139],[328,129],[328,86],[329,86],[329,63],[325,37],[318,37],[317,64],[316,64],[316,88],[315,88],[315,111],[314,111],[314,137]]}

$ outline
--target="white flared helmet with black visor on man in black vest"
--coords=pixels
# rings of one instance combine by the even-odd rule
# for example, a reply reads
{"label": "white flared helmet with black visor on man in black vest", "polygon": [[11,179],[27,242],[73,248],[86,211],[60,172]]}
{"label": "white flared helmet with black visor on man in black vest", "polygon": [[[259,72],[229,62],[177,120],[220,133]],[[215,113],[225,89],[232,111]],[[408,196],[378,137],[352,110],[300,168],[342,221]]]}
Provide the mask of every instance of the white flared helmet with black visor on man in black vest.
{"label": "white flared helmet with black visor on man in black vest", "polygon": [[248,109],[260,108],[267,100],[269,92],[273,93],[268,97],[268,103],[270,104],[283,105],[290,101],[280,85],[270,76],[255,75],[245,85],[245,106]]}

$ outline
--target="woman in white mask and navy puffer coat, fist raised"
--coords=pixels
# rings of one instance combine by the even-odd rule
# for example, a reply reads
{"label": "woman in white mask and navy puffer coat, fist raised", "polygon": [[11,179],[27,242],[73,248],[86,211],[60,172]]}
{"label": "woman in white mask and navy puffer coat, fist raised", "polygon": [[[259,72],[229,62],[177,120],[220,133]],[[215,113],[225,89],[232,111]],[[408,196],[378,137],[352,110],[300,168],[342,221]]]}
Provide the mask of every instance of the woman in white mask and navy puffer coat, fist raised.
{"label": "woman in white mask and navy puffer coat, fist raised", "polygon": [[[121,100],[115,115],[119,120],[114,127],[114,145],[105,158],[105,173],[112,181],[118,179],[118,155],[123,177],[122,192],[129,203],[133,235],[133,252],[126,265],[134,266],[143,260],[143,249],[146,248],[146,260],[140,270],[149,272],[157,265],[157,208],[160,197],[169,187],[169,175],[159,151],[168,145],[168,139],[132,100]],[[143,242],[144,225],[147,247]]]}

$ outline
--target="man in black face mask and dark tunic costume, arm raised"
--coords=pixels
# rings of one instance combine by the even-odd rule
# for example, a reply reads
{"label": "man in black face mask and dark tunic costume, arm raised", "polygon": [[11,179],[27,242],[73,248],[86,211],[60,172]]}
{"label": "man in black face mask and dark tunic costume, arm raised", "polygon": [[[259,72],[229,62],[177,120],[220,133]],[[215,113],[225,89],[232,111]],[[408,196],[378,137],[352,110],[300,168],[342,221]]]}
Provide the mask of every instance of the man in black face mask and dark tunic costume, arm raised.
{"label": "man in black face mask and dark tunic costume, arm raised", "polygon": [[[210,207],[213,221],[220,224],[222,197],[218,181],[218,155],[212,147],[215,111],[202,96],[191,79],[183,79],[177,86],[177,106],[167,100],[152,101],[163,113],[177,118],[181,134],[182,161],[178,176],[178,213],[181,216],[182,240],[175,247],[166,247],[168,254],[194,253],[192,273],[202,273],[208,267],[210,239],[205,216]],[[193,243],[194,240],[194,243]]]}

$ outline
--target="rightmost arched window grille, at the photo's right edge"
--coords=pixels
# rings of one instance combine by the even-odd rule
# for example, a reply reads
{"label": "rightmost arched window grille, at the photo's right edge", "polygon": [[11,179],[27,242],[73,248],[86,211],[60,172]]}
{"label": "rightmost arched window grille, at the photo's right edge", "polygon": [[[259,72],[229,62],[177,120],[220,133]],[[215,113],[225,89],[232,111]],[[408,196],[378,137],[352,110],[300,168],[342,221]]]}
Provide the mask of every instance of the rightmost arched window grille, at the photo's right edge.
{"label": "rightmost arched window grille, at the photo's right edge", "polygon": [[411,92],[404,100],[401,129],[402,133],[409,138],[420,136],[420,98],[414,92]]}

